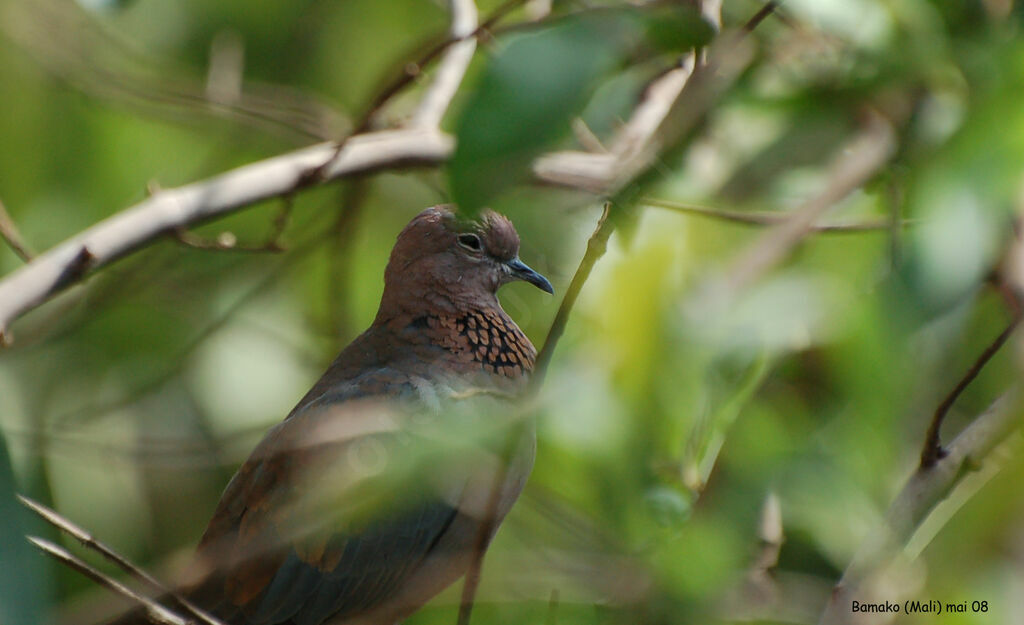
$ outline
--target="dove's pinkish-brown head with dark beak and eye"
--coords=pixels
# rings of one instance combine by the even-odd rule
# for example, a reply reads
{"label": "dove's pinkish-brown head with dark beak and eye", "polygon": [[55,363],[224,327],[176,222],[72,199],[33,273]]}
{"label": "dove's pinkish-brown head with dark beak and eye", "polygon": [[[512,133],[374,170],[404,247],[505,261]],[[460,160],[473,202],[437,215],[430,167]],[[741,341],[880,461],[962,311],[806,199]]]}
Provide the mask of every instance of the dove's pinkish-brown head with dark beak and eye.
{"label": "dove's pinkish-brown head with dark beak and eye", "polygon": [[[381,315],[493,305],[499,287],[522,280],[553,293],[551,283],[519,260],[519,235],[507,217],[485,210],[461,219],[445,206],[421,212],[398,235],[384,273]],[[390,315],[388,315],[390,316]]]}

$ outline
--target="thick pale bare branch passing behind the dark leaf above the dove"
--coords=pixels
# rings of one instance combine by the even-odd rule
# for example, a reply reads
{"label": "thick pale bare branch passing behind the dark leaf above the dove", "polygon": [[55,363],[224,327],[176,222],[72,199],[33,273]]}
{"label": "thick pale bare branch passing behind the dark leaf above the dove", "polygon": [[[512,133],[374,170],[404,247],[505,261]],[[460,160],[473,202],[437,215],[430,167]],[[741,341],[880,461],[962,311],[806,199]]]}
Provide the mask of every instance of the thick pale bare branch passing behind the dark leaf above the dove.
{"label": "thick pale bare branch passing behind the dark leaf above the dove", "polygon": [[[453,31],[460,33],[469,28],[471,17],[475,22],[464,1],[454,5],[459,9],[454,15],[459,24]],[[476,31],[479,29],[473,32]],[[659,149],[673,144],[688,130],[715,99],[715,94],[735,77],[745,61],[737,60],[731,48],[735,45],[721,54],[721,59],[709,64],[706,74],[714,74],[716,79],[701,81],[709,84],[695,89],[693,101],[688,99],[685,111],[680,112],[681,107],[676,102],[693,73],[692,55],[649,87],[647,97],[624,126],[611,153],[570,152],[542,157],[535,165],[538,177],[550,183],[592,192],[611,193],[621,189],[649,168]],[[447,67],[440,69],[437,80],[447,86],[430,90],[435,94],[434,100],[426,110],[421,110],[427,111],[422,119],[437,119],[438,106],[451,92],[453,76],[465,71],[463,54],[445,56]],[[348,137],[340,145],[321,143],[207,180],[161,191],[72,237],[0,281],[0,341],[9,340],[5,333],[10,324],[28,310],[91,272],[178,228],[223,216],[261,200],[292,194],[310,184],[382,168],[437,165],[451,157],[453,143],[452,137],[436,127],[367,132]]]}

